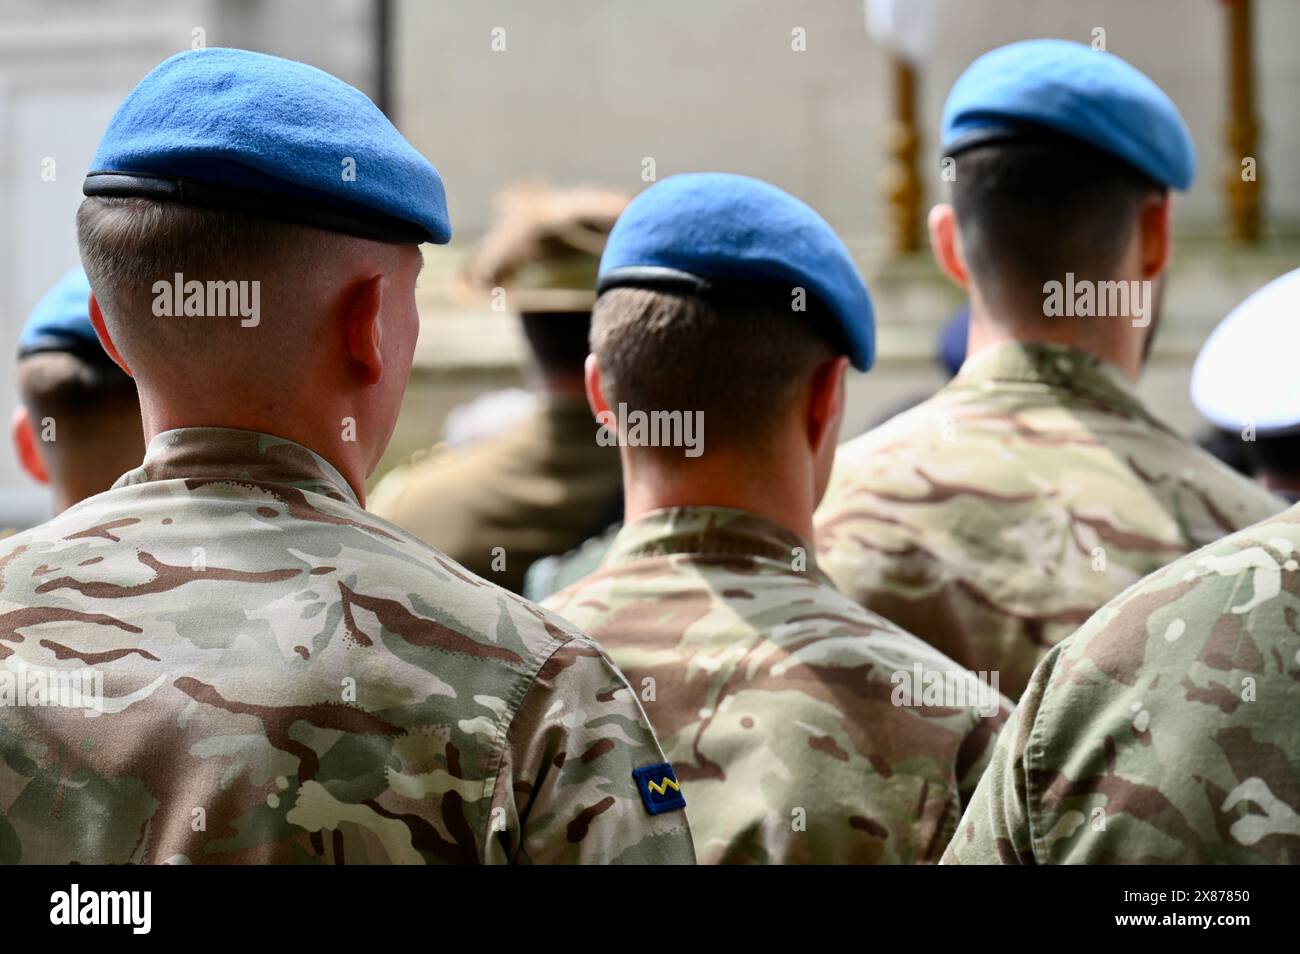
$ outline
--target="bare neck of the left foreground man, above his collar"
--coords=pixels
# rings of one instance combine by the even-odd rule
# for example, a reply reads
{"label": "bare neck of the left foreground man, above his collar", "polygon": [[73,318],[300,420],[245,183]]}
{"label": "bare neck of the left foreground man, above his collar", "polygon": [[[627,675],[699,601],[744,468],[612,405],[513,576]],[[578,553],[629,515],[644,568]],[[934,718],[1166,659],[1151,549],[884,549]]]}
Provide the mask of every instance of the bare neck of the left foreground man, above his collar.
{"label": "bare neck of the left foreground man, above his collar", "polygon": [[[361,425],[352,422],[348,426],[347,415],[330,415],[318,408],[312,413],[295,415],[283,408],[269,413],[257,408],[222,407],[216,402],[211,408],[160,407],[142,390],[140,417],[146,446],[159,434],[178,428],[235,428],[292,441],[333,464],[360,504],[365,506],[365,476],[370,469],[365,447],[370,445],[360,443]],[[335,420],[339,421],[337,426],[333,424]]]}

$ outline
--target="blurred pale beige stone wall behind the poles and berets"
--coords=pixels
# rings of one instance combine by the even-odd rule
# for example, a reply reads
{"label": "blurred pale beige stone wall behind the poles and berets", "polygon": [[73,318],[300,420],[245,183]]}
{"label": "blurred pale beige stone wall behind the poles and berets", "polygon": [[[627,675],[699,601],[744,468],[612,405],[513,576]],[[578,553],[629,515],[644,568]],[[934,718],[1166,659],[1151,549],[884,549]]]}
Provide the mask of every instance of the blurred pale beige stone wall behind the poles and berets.
{"label": "blurred pale beige stone wall behind the poles and berets", "polygon": [[[880,234],[889,74],[861,0],[395,0],[396,116],[447,179],[463,235],[523,174],[640,188],[727,169],[802,196],[842,231]],[[920,120],[926,186],[939,175],[944,97],[979,53],[1028,36],[1089,42],[1149,73],[1187,116],[1201,175],[1188,221],[1216,221],[1222,161],[1223,9],[1218,0],[939,0]],[[1257,0],[1261,169],[1268,208],[1300,220],[1300,3]],[[507,49],[493,52],[495,27]],[[790,49],[802,27],[806,52]]]}

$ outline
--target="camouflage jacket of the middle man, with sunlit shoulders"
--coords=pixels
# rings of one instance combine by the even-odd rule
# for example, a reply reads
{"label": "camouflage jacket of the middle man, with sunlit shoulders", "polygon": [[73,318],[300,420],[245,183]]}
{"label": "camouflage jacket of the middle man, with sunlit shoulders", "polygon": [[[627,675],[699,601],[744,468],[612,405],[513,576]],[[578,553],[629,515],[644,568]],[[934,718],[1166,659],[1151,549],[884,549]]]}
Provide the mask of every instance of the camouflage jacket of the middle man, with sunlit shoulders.
{"label": "camouflage jacket of the middle man, with sunlit shoulders", "polygon": [[913,694],[915,677],[970,675],[742,511],[650,513],[546,606],[641,693],[701,862],[936,862],[1009,708],[987,686]]}

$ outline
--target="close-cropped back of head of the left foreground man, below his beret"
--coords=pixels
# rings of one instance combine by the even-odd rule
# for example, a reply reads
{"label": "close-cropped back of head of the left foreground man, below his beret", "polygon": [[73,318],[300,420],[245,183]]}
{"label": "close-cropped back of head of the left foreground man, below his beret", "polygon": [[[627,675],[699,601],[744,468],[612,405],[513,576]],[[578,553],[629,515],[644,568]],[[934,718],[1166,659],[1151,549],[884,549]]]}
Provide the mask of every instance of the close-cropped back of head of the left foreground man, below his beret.
{"label": "close-cropped back of head of the left foreground man, below his beret", "polygon": [[339,264],[364,244],[240,211],[114,196],[82,203],[77,235],[136,380],[203,390],[307,360]]}

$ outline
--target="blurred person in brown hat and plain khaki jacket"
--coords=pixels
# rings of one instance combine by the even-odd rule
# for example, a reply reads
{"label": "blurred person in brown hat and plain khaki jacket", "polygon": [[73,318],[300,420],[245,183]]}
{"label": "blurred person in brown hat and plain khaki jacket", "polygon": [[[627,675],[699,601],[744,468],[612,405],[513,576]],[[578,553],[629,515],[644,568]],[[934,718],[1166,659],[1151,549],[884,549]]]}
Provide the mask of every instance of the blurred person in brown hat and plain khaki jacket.
{"label": "blurred person in brown hat and plain khaki jacket", "polygon": [[627,196],[516,186],[462,273],[462,299],[502,295],[519,312],[538,400],[495,437],[421,451],[376,486],[370,511],[493,582],[523,590],[540,558],[618,519],[619,454],[595,441],[582,394],[595,268]]}

